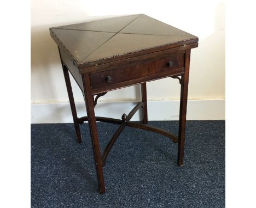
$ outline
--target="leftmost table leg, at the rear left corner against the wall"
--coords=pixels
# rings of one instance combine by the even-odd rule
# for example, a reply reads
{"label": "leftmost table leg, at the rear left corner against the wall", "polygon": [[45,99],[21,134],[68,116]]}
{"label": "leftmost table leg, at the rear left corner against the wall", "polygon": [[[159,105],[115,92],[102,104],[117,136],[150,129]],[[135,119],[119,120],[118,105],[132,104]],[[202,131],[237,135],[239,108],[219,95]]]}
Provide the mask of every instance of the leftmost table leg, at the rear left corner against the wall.
{"label": "leftmost table leg, at the rear left corner against the wall", "polygon": [[73,92],[72,92],[68,69],[67,69],[67,66],[62,61],[61,61],[61,64],[62,64],[63,74],[65,77],[68,99],[69,99],[73,122],[74,122],[74,127],[75,127],[75,133],[77,134],[77,142],[82,143],[80,127],[79,127],[79,123],[77,122],[77,110],[75,109],[74,96],[73,96]]}

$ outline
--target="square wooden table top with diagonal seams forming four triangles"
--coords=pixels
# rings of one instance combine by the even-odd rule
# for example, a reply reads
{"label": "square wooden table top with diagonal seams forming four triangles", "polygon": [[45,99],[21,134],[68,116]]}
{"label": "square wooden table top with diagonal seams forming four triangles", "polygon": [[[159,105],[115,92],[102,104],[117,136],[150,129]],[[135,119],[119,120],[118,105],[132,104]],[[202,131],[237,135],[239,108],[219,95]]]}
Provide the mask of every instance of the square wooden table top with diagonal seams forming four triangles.
{"label": "square wooden table top with diagonal seams forming four triangles", "polygon": [[50,28],[78,68],[193,44],[198,38],[144,14]]}

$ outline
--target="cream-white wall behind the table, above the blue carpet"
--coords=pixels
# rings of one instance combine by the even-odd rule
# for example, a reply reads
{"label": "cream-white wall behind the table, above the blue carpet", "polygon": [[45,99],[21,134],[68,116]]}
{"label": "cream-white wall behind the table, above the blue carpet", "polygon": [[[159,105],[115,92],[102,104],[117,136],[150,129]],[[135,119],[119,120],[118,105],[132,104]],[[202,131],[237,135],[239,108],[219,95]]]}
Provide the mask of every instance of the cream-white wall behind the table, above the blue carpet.
{"label": "cream-white wall behind the table, above the blue carpet", "polygon": [[[203,119],[225,118],[225,4],[223,1],[152,1],[150,3],[150,1],[31,0],[32,123],[69,121],[63,117],[56,121],[53,118],[54,113],[49,113],[56,111],[59,103],[68,101],[59,53],[50,37],[49,27],[140,13],[199,37],[199,47],[191,51],[188,97],[190,100],[205,101],[203,103],[206,104],[202,105],[207,105],[208,110],[202,112],[206,115]],[[83,101],[83,96],[73,80],[72,86],[75,101]],[[165,78],[150,82],[148,100],[158,101],[159,105],[163,100],[178,100],[179,89],[177,79]],[[135,101],[139,100],[139,97],[139,87],[135,86],[111,91],[100,100]],[[216,108],[212,100],[221,101],[222,105]],[[44,106],[46,103],[46,106],[40,108],[39,112],[38,105],[42,103]],[[48,105],[49,103],[51,105]],[[51,108],[54,103],[56,106]],[[44,111],[49,114],[46,116]],[[213,111],[216,111],[217,117],[213,116]],[[154,117],[154,120],[166,119],[160,115],[161,113],[158,119]],[[193,119],[202,119],[202,117],[193,115]]]}

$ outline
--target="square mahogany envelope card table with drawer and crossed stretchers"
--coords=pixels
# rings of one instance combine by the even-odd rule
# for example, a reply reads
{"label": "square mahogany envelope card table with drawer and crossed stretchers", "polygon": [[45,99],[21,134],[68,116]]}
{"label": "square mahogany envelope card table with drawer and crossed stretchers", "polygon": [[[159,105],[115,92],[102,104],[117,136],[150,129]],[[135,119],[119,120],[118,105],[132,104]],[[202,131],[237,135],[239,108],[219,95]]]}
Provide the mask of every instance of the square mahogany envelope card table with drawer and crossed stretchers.
{"label": "square mahogany envelope card table with drawer and crossed stretchers", "polygon": [[[100,193],[105,193],[106,158],[125,126],[159,133],[178,143],[178,165],[183,166],[190,50],[198,46],[196,36],[144,14],[53,27],[50,34],[59,47],[78,143],[82,142],[79,124],[88,121],[90,126]],[[84,95],[86,117],[77,117],[68,71]],[[177,78],[181,84],[178,136],[147,124],[146,82],[165,77]],[[128,115],[121,119],[95,116],[100,96],[135,84],[141,84],[142,101]],[[139,108],[143,108],[143,122],[131,122]],[[96,121],[120,125],[102,155]]]}

